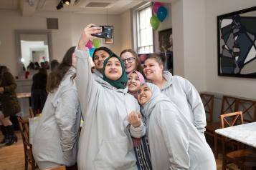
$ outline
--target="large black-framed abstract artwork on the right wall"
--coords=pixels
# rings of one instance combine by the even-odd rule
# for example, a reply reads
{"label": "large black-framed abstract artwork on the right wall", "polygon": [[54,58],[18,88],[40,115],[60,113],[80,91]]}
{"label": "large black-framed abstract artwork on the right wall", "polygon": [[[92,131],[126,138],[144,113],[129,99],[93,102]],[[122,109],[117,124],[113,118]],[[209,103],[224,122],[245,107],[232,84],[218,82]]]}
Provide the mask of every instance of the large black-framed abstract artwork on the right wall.
{"label": "large black-framed abstract artwork on the right wall", "polygon": [[256,78],[256,6],[217,16],[218,75]]}

